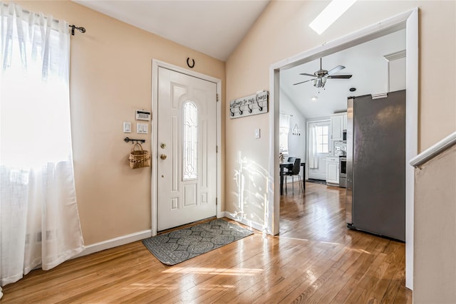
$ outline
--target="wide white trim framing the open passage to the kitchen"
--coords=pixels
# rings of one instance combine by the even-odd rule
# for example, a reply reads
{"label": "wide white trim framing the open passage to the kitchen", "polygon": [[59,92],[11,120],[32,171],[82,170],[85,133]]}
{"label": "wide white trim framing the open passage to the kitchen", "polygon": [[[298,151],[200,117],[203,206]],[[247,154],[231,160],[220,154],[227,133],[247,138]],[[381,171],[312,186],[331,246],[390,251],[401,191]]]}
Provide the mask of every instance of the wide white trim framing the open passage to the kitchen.
{"label": "wide white trim framing the open passage to the kitchen", "polygon": [[[370,41],[388,33],[405,28],[406,38],[406,113],[405,113],[405,160],[406,164],[418,154],[418,75],[419,75],[419,28],[418,8],[380,21],[354,33],[323,43],[321,46],[304,51],[296,56],[286,58],[269,66],[269,172],[268,200],[266,204],[266,231],[268,234],[279,234],[280,189],[279,179],[279,96],[280,70],[313,61],[322,56],[342,51],[351,46]],[[405,286],[413,290],[413,225],[414,225],[414,170],[405,168]]]}

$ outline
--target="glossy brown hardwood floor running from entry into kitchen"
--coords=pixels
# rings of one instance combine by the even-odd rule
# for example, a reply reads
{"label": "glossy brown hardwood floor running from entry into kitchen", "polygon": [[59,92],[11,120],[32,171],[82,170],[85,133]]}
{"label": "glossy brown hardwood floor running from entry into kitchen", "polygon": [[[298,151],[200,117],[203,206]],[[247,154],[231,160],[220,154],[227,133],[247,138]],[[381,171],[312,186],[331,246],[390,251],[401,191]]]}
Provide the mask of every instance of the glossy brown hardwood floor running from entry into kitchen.
{"label": "glossy brown hardwood floor running from entry into kitchen", "polygon": [[348,230],[344,189],[296,187],[279,236],[255,231],[175,266],[137,241],[32,271],[0,303],[412,303],[405,244]]}

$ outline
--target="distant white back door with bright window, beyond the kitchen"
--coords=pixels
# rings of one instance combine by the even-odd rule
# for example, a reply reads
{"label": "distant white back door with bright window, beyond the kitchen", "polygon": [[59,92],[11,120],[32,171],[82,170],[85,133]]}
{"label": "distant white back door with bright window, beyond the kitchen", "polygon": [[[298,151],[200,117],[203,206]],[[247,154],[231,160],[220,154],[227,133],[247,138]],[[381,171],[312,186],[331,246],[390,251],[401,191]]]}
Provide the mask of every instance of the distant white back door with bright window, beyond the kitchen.
{"label": "distant white back door with bright window, beyond the kitchen", "polygon": [[[309,162],[309,179],[326,180],[326,157],[331,153],[331,145],[329,141],[330,122],[309,122],[309,130],[307,138],[309,138],[309,149],[307,150],[307,159],[314,157],[316,162]],[[314,128],[314,135],[311,135],[311,129]],[[310,142],[312,140],[312,142]],[[313,154],[313,155],[311,155]]]}

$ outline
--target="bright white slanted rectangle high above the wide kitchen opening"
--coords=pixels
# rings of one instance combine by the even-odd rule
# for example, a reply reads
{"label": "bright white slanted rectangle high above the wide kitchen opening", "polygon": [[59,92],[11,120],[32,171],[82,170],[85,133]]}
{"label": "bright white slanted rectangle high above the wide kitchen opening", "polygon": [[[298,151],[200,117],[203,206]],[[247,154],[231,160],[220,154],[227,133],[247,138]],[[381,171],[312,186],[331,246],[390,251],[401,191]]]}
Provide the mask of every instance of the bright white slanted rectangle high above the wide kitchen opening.
{"label": "bright white slanted rectangle high above the wide kitchen opening", "polygon": [[326,31],[326,28],[331,26],[331,24],[334,23],[340,16],[342,16],[343,13],[346,12],[347,9],[352,6],[356,0],[333,0],[331,1],[328,6],[321,11],[318,16],[316,16],[316,19],[312,21],[309,26],[318,33],[318,35],[321,35],[323,31]]}

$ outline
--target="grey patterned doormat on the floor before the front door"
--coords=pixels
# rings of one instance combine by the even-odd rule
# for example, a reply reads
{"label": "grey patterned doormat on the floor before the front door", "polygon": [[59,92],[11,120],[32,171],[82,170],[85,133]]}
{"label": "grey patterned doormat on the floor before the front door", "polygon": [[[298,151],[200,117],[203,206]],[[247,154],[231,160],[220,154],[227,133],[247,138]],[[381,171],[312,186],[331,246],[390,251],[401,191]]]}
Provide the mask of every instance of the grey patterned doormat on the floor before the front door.
{"label": "grey patterned doormat on the floor before the front door", "polygon": [[144,246],[166,265],[175,265],[222,247],[253,232],[222,219],[142,240]]}

